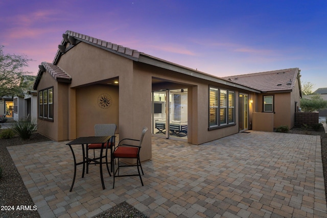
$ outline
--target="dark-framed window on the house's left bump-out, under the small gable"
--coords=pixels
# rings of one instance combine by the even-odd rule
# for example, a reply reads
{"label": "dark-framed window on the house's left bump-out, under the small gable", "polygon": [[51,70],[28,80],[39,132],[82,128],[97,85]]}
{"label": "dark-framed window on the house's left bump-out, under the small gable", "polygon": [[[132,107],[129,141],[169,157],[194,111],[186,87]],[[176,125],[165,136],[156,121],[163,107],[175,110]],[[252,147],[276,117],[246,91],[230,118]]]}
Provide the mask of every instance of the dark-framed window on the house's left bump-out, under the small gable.
{"label": "dark-framed window on the house's left bump-out, under the small gable", "polygon": [[39,117],[53,120],[53,87],[39,91]]}

